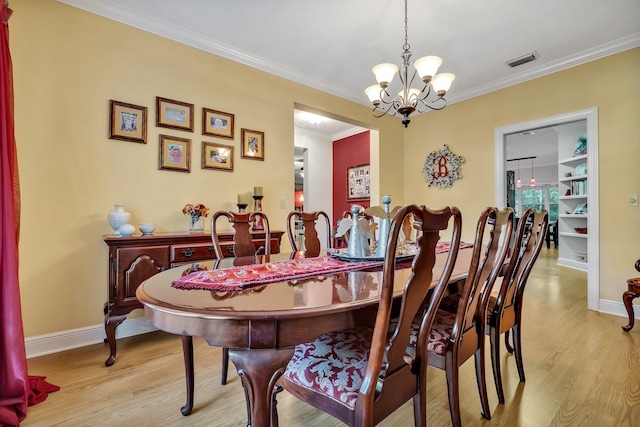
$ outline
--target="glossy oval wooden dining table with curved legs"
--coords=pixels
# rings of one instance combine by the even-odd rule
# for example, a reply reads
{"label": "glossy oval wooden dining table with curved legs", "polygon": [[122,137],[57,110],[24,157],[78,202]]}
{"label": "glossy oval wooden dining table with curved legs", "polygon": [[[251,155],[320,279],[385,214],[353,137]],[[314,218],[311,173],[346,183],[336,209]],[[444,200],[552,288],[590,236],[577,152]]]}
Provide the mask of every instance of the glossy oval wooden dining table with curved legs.
{"label": "glossy oval wooden dining table with curved legs", "polygon": [[[466,277],[471,252],[471,248],[459,250],[450,282]],[[447,255],[437,254],[434,273],[442,270]],[[309,254],[273,254],[268,261],[305,256]],[[191,413],[194,401],[192,337],[229,348],[229,358],[245,388],[251,425],[264,427],[271,423],[272,392],[297,344],[313,341],[328,331],[374,324],[382,266],[254,284],[241,290],[172,287],[172,282],[189,271],[265,261],[261,255],[176,267],[152,276],[138,287],[136,296],[144,305],[146,320],[160,330],[182,336],[187,379],[183,415]],[[394,284],[397,298],[402,296],[410,273],[410,262],[398,263]],[[437,280],[434,277],[434,285]]]}

